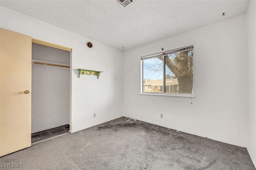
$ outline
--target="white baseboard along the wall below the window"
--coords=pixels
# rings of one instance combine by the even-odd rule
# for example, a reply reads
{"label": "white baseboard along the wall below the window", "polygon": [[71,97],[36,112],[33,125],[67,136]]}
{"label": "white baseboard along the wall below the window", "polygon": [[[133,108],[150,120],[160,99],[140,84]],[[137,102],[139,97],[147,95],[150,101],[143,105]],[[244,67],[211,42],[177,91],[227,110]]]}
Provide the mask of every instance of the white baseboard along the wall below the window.
{"label": "white baseboard along the wall below the window", "polygon": [[[125,115],[125,117],[127,117],[128,115]],[[147,123],[151,123],[151,124],[154,124],[154,125],[158,125],[158,126],[162,126],[162,127],[166,127],[164,125],[160,125],[160,124],[157,124],[157,123],[154,123],[154,122],[150,122],[150,121],[145,121],[145,120],[142,120],[142,119],[137,119],[136,117],[131,117],[131,118],[134,118],[136,120],[141,120],[141,121],[144,121],[144,122],[147,122]],[[191,135],[196,135],[196,136],[200,136],[200,137],[207,137],[208,139],[212,139],[212,140],[215,140],[215,141],[220,141],[220,142],[223,142],[223,143],[228,143],[228,144],[231,144],[231,145],[236,145],[238,147],[244,147],[246,148],[247,145],[244,145],[242,143],[236,143],[236,142],[232,142],[232,141],[225,141],[225,140],[222,140],[222,139],[218,139],[218,138],[215,138],[215,137],[210,137],[210,136],[205,136],[205,135],[201,135],[201,134],[198,134],[198,133],[193,133],[191,131],[186,131],[186,130],[182,130],[182,129],[176,129],[174,127],[167,127],[167,128],[170,128],[170,129],[174,129],[176,131],[181,131],[181,132],[185,132],[185,133],[189,133]]]}

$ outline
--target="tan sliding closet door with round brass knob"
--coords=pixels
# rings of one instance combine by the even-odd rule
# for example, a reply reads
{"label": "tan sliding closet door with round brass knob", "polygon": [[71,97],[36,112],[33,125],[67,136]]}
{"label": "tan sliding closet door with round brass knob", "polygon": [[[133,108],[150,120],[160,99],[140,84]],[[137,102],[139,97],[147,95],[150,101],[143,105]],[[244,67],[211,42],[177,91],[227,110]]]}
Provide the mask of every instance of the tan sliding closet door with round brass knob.
{"label": "tan sliding closet door with round brass knob", "polygon": [[31,48],[31,37],[0,29],[0,156],[31,146]]}

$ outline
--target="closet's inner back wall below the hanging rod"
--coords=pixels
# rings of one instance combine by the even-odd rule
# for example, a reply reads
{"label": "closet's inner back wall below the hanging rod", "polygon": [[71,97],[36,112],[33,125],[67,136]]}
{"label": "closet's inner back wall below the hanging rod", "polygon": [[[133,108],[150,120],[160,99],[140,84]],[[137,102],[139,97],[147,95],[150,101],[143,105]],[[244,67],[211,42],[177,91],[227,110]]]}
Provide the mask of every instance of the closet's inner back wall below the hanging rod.
{"label": "closet's inner back wall below the hanging rod", "polygon": [[32,133],[69,124],[70,70],[32,64]]}

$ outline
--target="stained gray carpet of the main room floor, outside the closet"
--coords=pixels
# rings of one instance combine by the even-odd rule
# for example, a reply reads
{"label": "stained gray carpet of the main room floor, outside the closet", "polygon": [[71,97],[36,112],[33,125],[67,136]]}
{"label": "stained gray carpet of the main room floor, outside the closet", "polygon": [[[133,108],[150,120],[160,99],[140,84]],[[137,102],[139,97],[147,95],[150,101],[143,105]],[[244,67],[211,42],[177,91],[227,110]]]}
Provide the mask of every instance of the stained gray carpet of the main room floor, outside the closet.
{"label": "stained gray carpet of the main room floor, outside the closet", "polygon": [[[246,148],[121,117],[2,156],[26,170],[255,170]],[[2,168],[12,169],[12,168]]]}

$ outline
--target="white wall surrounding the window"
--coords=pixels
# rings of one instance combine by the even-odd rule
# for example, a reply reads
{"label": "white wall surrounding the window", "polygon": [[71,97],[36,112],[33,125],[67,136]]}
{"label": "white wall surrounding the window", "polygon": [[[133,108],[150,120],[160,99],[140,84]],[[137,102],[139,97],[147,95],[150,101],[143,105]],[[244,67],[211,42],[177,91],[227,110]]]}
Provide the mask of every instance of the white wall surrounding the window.
{"label": "white wall surrounding the window", "polygon": [[[193,44],[193,104],[189,98],[140,95],[140,56]],[[245,15],[124,51],[123,56],[125,116],[246,147]]]}

